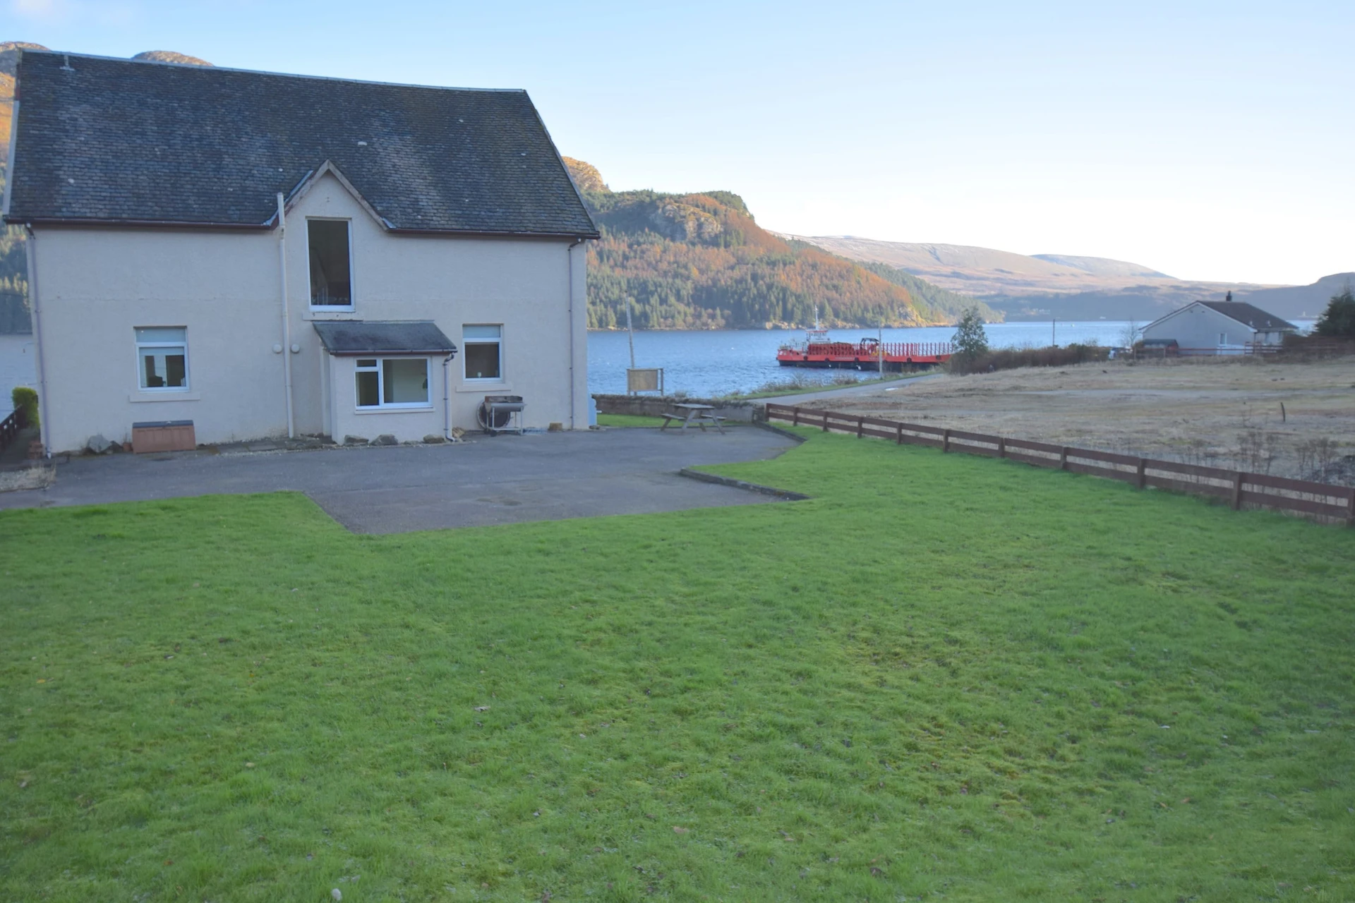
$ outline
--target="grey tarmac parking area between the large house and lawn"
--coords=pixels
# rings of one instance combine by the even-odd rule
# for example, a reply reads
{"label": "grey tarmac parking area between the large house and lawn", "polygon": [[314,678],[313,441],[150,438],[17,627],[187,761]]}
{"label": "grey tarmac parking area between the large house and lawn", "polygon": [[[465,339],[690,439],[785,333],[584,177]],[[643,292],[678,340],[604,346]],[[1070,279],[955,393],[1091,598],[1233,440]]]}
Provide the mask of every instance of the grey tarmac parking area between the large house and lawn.
{"label": "grey tarmac parking area between the large house and lawn", "polygon": [[47,489],[0,493],[0,509],[297,490],[356,533],[641,514],[775,501],[676,471],[775,458],[793,444],[737,426],[725,435],[607,429],[469,436],[454,445],[73,458],[57,466]]}

